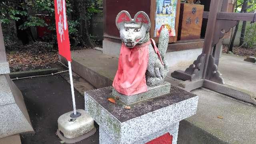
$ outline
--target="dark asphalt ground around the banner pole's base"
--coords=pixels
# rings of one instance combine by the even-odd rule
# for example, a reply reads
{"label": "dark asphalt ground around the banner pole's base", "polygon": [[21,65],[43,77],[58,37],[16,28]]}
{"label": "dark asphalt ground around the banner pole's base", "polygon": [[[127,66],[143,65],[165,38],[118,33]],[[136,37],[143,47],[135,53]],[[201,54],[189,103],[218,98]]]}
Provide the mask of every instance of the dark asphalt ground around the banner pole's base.
{"label": "dark asphalt ground around the banner pole's base", "polygon": [[[60,75],[14,80],[21,90],[34,134],[22,134],[22,144],[60,144],[58,117],[72,110],[70,84]],[[84,109],[84,96],[75,90],[76,108]],[[76,144],[98,144],[99,131]]]}

